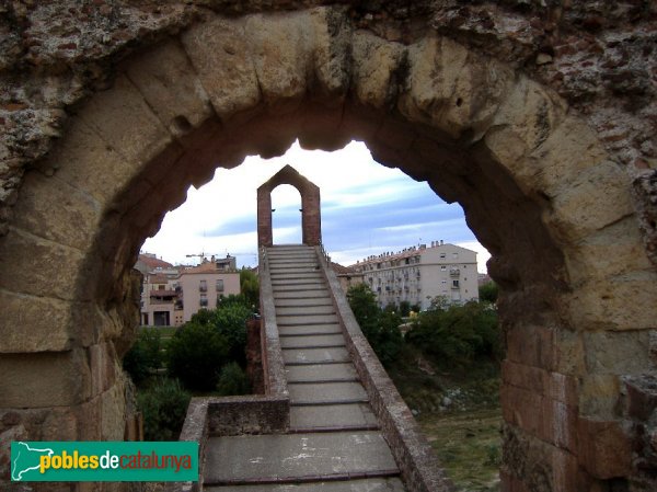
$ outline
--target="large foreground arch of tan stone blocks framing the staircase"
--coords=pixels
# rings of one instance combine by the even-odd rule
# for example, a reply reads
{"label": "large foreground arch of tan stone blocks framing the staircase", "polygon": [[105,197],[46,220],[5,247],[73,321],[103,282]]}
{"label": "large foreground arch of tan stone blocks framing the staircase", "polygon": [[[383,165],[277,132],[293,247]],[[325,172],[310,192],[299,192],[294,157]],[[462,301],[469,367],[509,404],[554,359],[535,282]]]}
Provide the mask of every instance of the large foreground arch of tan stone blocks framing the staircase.
{"label": "large foreground arch of tan stone blocks framing the staircase", "polygon": [[654,369],[657,278],[624,171],[551,90],[435,33],[404,45],[357,30],[339,8],[210,15],[77,108],[0,240],[7,432],[124,437],[141,242],[187,185],[295,138],[366,141],[459,201],[493,253],[507,489],[637,473],[620,386]]}

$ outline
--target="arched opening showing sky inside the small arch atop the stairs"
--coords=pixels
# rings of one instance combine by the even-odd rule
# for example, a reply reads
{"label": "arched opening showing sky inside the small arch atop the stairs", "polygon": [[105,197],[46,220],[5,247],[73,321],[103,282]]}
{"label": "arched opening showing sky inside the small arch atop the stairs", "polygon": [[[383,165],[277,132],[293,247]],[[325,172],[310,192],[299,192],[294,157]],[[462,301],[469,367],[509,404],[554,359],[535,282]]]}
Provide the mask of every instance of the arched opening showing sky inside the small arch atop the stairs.
{"label": "arched opening showing sky inside the small arch atop the stairs", "polygon": [[289,184],[272,192],[272,232],[274,244],[302,244],[301,195]]}

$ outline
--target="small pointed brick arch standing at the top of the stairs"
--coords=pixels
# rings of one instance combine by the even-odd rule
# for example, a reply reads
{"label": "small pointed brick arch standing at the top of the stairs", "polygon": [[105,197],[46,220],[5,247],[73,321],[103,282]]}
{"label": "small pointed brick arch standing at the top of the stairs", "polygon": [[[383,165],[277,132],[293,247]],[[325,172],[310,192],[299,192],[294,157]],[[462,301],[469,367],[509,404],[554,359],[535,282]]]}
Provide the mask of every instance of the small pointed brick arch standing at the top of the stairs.
{"label": "small pointed brick arch standing at the top of the stairs", "polygon": [[301,242],[307,245],[320,245],[322,243],[320,188],[291,165],[284,167],[257,188],[257,245],[274,244],[272,192],[281,184],[296,187],[301,195]]}

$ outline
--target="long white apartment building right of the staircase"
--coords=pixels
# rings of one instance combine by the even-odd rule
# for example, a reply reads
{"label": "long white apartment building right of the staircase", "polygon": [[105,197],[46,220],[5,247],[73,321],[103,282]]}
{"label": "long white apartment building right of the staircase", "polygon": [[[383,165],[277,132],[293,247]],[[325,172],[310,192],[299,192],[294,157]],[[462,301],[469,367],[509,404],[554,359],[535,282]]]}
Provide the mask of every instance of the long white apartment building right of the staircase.
{"label": "long white apartment building right of the staircase", "polygon": [[407,301],[427,309],[437,296],[459,304],[479,300],[476,252],[442,241],[369,256],[353,267],[380,307]]}

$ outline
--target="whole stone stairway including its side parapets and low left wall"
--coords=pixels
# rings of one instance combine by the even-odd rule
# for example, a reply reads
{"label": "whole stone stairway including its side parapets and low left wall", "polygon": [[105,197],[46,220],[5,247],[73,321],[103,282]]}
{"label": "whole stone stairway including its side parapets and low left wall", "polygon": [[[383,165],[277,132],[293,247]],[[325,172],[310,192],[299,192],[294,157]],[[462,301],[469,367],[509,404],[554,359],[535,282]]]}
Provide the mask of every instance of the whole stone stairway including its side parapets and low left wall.
{"label": "whole stone stairway including its side parapets and low left wall", "polygon": [[192,400],[201,480],[170,491],[452,490],[322,248],[263,247],[260,278],[265,394]]}

